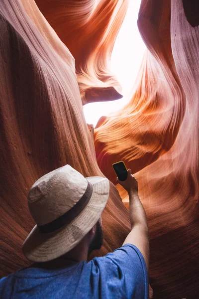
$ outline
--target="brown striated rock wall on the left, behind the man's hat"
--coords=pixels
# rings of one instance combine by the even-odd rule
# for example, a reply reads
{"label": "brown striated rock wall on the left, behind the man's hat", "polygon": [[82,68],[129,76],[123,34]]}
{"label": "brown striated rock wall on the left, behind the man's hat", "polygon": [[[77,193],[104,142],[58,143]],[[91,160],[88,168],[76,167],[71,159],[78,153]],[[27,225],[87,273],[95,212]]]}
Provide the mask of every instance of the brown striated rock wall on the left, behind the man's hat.
{"label": "brown striated rock wall on the left, behind the man's hat", "polygon": [[[21,245],[34,222],[27,193],[43,174],[69,163],[103,176],[86,124],[74,58],[34,1],[0,2],[0,276],[28,262]],[[110,182],[102,214],[106,254],[122,245],[128,211]]]}

